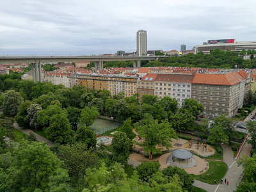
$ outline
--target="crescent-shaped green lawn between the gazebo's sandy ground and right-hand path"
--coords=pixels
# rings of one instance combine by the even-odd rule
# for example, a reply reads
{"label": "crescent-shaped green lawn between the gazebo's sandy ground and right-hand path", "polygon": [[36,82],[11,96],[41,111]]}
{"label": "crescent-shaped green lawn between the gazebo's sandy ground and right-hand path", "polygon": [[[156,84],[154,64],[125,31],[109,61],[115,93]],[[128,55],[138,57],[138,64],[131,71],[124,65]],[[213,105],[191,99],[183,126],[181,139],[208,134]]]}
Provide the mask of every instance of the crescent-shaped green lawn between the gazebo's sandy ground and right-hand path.
{"label": "crescent-shaped green lawn between the gazebo's sandy ground and right-hand path", "polygon": [[208,184],[215,184],[214,180],[216,180],[217,184],[221,182],[227,173],[228,166],[223,161],[211,161],[209,160],[209,170],[201,175],[193,175],[194,179],[201,180],[202,182],[206,182]]}

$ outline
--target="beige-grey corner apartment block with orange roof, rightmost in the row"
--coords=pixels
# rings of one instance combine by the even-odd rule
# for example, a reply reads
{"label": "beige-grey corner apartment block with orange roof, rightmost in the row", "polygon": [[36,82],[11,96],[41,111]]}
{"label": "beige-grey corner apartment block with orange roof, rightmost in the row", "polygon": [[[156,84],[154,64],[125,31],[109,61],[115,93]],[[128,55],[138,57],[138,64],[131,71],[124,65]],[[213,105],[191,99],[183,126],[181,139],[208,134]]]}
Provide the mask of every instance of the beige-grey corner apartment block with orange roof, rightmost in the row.
{"label": "beige-grey corner apartment block with orange roof, rightmost in the row", "polygon": [[232,117],[239,106],[241,81],[234,74],[195,74],[192,81],[192,99],[204,106],[203,115],[208,118],[221,114]]}

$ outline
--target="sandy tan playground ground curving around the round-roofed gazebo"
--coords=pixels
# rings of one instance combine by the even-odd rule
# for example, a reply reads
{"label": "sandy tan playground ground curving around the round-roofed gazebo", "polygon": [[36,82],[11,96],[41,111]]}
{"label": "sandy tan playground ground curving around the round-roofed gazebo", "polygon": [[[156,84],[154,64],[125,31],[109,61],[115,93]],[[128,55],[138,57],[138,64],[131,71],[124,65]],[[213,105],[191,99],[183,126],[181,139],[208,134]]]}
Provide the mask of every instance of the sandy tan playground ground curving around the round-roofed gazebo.
{"label": "sandy tan playground ground curving around the round-roofed gazebo", "polygon": [[[136,131],[133,130],[133,132],[136,134]],[[143,141],[143,138],[134,138],[134,140],[138,143]],[[166,147],[162,147],[161,145],[157,145],[157,148],[160,148],[161,151],[166,151]],[[183,139],[172,139],[172,148],[169,148],[168,153],[163,154],[162,156],[158,157],[157,159],[149,160],[147,157],[144,156],[145,152],[143,148],[141,148],[139,145],[134,145],[133,149],[140,152],[140,154],[132,154],[130,156],[130,159],[134,159],[136,161],[159,161],[161,168],[166,168],[170,164],[168,164],[168,158],[170,158],[170,155],[172,154],[172,151],[175,149],[184,149],[188,150],[189,152],[193,153],[193,161],[195,161],[195,165],[193,164],[192,167],[188,168],[186,166],[187,161],[185,159],[180,159],[179,164],[181,164],[180,167],[184,168],[186,172],[189,174],[195,174],[200,175],[203,172],[206,172],[209,169],[209,163],[206,159],[202,159],[198,156],[195,156],[195,154],[203,157],[212,156],[215,153],[215,149],[211,147],[211,145],[207,145],[207,143],[204,143],[203,141],[199,140],[183,140]]]}

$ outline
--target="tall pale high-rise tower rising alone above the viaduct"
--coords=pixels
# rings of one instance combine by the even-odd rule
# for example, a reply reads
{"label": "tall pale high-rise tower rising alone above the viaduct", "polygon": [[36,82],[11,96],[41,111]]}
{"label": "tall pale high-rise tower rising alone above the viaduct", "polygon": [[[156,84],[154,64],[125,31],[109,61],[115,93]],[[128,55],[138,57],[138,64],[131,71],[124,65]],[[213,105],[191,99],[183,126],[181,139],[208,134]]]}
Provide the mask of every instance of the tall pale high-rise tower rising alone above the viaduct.
{"label": "tall pale high-rise tower rising alone above the viaduct", "polygon": [[147,56],[147,31],[139,30],[137,32],[137,54],[138,56]]}

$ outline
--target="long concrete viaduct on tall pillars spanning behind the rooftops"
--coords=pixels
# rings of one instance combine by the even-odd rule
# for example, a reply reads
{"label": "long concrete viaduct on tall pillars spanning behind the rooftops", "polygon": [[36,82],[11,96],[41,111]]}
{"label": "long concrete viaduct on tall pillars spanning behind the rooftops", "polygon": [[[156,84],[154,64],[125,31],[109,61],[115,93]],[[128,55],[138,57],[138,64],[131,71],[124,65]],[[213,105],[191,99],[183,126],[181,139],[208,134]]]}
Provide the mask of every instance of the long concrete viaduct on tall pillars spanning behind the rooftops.
{"label": "long concrete viaduct on tall pillars spanning behind the rooftops", "polygon": [[35,82],[42,81],[42,63],[94,61],[95,71],[103,69],[103,61],[133,61],[133,67],[140,67],[142,60],[158,60],[165,56],[0,56],[0,63],[31,63]]}

